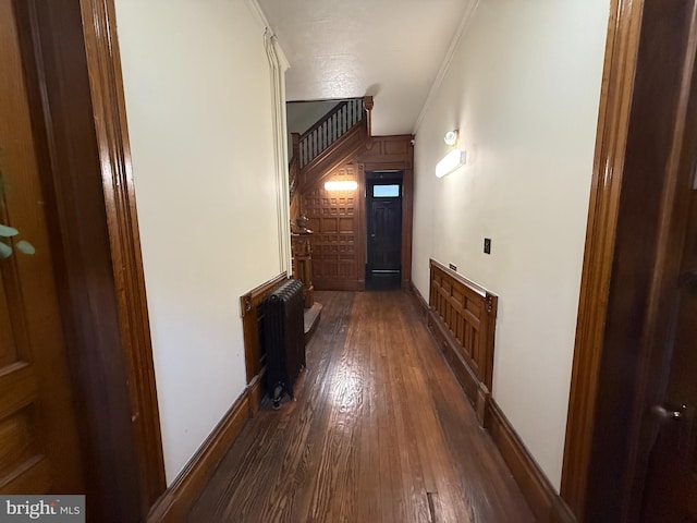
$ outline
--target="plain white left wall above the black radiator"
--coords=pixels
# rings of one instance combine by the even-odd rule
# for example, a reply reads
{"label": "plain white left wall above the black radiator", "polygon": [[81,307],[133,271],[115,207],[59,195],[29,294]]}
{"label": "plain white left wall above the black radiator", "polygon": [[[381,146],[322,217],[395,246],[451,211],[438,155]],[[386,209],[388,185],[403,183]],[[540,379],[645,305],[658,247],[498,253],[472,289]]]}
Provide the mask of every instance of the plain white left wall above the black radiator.
{"label": "plain white left wall above the black radiator", "polygon": [[168,483],[245,388],[240,296],[281,272],[264,28],[242,0],[117,0]]}

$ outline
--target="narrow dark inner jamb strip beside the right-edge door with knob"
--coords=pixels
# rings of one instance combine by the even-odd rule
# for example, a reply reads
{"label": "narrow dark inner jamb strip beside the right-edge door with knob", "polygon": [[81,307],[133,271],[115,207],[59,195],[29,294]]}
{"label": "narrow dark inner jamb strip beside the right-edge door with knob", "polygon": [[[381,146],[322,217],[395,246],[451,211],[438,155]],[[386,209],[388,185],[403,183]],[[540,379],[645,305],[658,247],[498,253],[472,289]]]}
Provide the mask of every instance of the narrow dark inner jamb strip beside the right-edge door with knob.
{"label": "narrow dark inner jamb strip beside the right-edge door with knob", "polygon": [[[656,233],[656,262],[650,277],[650,292],[647,300],[639,348],[639,364],[636,370],[636,399],[634,402],[631,434],[636,438],[629,442],[627,471],[624,482],[623,521],[638,521],[644,507],[645,481],[648,457],[653,437],[646,428],[644,413],[647,405],[660,404],[669,380],[670,365],[665,365],[667,340],[671,338],[674,325],[671,294],[681,275],[686,229],[690,211],[689,193],[681,194],[683,187],[693,185],[694,157],[686,144],[694,143],[695,110],[697,109],[697,5],[693,4],[689,21],[689,37],[686,42],[683,75],[677,94],[675,125],[667,161],[664,187],[660,198],[662,219]],[[690,131],[692,130],[692,131]],[[688,134],[689,133],[689,134]],[[692,139],[690,139],[692,138]],[[656,369],[661,369],[659,373]],[[660,377],[659,377],[660,376]]]}

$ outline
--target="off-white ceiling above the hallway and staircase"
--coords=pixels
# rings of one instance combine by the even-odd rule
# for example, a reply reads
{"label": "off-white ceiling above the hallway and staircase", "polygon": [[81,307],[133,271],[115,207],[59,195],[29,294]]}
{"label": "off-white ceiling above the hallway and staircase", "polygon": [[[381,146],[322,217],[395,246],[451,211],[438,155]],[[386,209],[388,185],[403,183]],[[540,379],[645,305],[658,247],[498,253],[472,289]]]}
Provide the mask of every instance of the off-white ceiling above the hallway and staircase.
{"label": "off-white ceiling above the hallway and staircase", "polygon": [[473,0],[258,0],[289,101],[375,97],[372,134],[411,134]]}

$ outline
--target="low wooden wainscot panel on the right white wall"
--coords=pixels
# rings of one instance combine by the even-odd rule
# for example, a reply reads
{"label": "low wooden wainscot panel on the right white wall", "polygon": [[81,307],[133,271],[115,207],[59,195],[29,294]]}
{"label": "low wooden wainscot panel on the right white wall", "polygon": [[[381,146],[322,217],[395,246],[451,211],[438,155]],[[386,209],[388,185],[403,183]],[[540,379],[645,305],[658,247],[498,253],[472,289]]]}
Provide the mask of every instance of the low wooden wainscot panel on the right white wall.
{"label": "low wooden wainscot panel on the right white wall", "polygon": [[491,396],[498,296],[430,260],[428,326],[484,424]]}

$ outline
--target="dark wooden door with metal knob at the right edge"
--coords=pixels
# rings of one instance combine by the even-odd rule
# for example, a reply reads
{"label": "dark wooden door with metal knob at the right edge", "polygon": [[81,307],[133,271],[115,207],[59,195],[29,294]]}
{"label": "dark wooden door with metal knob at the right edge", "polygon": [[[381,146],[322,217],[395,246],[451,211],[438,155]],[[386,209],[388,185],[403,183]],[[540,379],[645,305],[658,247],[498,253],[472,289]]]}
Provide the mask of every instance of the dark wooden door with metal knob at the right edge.
{"label": "dark wooden door with metal knob at the right edge", "polygon": [[[664,255],[659,255],[655,281],[664,281],[658,302],[661,311],[655,335],[651,382],[644,433],[649,433],[648,466],[644,491],[644,523],[697,522],[697,3],[681,2],[688,31],[683,88],[686,109],[676,120],[673,161],[663,216],[669,223]],[[676,11],[680,13],[680,10]],[[685,82],[687,80],[688,82]],[[672,167],[674,166],[674,167]],[[674,188],[671,188],[673,186]]]}

